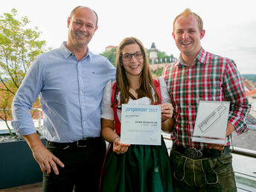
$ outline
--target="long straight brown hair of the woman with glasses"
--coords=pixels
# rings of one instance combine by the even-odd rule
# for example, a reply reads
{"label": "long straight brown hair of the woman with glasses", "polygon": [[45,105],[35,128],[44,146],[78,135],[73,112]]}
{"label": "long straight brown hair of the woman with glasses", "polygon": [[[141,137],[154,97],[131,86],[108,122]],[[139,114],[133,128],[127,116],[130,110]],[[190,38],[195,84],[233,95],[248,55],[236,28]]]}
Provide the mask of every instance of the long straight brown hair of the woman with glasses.
{"label": "long straight brown hair of the woman with glasses", "polygon": [[[116,54],[116,89],[115,89],[115,95],[118,91],[121,92],[120,95],[120,102],[118,103],[118,106],[121,106],[123,103],[128,103],[129,97],[132,99],[136,99],[130,92],[129,92],[129,81],[127,80],[127,75],[125,73],[123,60],[122,60],[122,51],[125,46],[131,45],[131,44],[137,44],[141,48],[141,52],[144,55],[144,67],[141,71],[141,77],[140,77],[140,87],[138,89],[138,98],[141,97],[149,97],[151,100],[151,104],[154,104],[153,95],[150,89],[150,85],[153,87],[155,95],[156,95],[156,102],[160,103],[159,95],[156,91],[155,83],[153,82],[153,77],[150,71],[150,63],[147,58],[147,51],[144,48],[144,45],[142,45],[141,41],[136,39],[135,37],[127,37],[125,38],[120,45],[118,46],[118,51]],[[112,106],[116,102],[116,98],[114,97],[114,100],[112,101]]]}

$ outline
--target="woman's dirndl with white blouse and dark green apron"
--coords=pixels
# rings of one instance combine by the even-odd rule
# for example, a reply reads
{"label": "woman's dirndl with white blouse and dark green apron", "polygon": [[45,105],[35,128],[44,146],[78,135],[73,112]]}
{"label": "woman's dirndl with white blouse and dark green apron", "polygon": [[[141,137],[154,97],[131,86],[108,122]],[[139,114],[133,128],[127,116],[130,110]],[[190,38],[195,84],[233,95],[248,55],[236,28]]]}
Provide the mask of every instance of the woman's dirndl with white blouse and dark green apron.
{"label": "woman's dirndl with white blouse and dark green apron", "polygon": [[[114,112],[111,107],[112,92],[115,82],[106,84],[101,103],[101,118],[114,120]],[[170,102],[170,95],[164,79],[159,77],[161,89],[161,103]],[[152,88],[152,94],[155,92]],[[120,92],[117,100],[120,99]],[[148,97],[138,100],[129,99],[129,104],[150,104]],[[117,112],[121,119],[121,110]],[[170,160],[164,139],[161,137],[161,145],[136,145],[131,144],[126,153],[113,152],[112,144],[106,154],[101,175],[100,191],[106,192],[165,192],[173,191]]]}

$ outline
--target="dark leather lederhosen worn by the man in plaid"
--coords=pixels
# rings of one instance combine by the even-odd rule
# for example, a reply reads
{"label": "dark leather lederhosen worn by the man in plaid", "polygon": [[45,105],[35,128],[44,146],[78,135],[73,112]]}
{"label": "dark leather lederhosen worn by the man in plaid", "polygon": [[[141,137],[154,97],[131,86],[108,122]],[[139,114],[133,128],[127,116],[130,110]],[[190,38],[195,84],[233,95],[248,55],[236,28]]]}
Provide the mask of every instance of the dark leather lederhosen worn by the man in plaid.
{"label": "dark leather lederhosen worn by the man in plaid", "polygon": [[172,150],[170,161],[174,191],[237,191],[231,153],[189,159]]}

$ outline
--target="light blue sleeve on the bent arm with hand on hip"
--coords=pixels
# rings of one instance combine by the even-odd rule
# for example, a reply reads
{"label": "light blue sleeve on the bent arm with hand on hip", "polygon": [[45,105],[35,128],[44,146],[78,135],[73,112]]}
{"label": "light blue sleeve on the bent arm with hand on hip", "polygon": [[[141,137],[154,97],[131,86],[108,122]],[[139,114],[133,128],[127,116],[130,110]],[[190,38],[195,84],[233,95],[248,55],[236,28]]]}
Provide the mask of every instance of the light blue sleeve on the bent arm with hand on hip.
{"label": "light blue sleeve on the bent arm with hand on hip", "polygon": [[11,125],[19,135],[30,135],[36,132],[31,112],[32,105],[42,88],[42,68],[39,59],[28,69],[21,86],[13,98]]}

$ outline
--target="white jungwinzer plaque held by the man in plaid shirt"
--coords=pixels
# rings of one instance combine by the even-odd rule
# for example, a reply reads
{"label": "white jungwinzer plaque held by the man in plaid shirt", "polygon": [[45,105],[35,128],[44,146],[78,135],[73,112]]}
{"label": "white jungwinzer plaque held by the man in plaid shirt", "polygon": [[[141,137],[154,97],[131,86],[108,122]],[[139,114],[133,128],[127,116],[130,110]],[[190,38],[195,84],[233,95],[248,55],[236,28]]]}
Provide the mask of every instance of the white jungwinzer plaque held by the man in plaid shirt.
{"label": "white jungwinzer plaque held by the man in plaid shirt", "polygon": [[226,144],[229,101],[199,100],[193,142]]}

